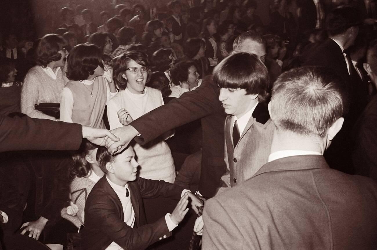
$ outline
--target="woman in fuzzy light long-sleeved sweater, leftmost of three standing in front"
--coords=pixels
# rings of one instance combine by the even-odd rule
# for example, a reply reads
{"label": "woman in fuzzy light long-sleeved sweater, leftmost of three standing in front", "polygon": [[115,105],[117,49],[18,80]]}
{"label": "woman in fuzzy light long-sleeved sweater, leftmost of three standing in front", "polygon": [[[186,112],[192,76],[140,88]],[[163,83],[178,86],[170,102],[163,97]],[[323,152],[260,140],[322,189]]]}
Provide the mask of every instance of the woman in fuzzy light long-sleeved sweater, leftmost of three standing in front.
{"label": "woman in fuzzy light long-sleeved sweater, leftmost of three standing in front", "polygon": [[41,38],[37,50],[37,66],[25,76],[21,91],[21,112],[32,118],[55,120],[35,109],[35,104],[59,103],[60,94],[68,79],[64,73],[66,41],[58,34],[47,34]]}

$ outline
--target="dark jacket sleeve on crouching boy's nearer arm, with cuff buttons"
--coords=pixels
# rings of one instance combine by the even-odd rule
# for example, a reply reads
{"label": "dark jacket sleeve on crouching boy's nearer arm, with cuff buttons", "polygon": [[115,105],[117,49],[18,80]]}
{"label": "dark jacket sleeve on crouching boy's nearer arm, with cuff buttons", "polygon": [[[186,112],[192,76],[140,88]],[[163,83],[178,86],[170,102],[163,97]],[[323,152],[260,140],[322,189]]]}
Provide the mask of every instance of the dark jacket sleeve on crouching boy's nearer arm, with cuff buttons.
{"label": "dark jacket sleeve on crouching boy's nearer arm, with cuff buttons", "polygon": [[100,225],[101,232],[122,248],[127,250],[146,249],[163,235],[172,235],[167,228],[164,217],[138,228],[127,226],[119,219],[113,201],[109,199],[106,193],[98,194],[94,191],[96,194],[92,194],[92,192],[90,195],[96,198],[87,200],[85,221],[89,220],[90,224]]}

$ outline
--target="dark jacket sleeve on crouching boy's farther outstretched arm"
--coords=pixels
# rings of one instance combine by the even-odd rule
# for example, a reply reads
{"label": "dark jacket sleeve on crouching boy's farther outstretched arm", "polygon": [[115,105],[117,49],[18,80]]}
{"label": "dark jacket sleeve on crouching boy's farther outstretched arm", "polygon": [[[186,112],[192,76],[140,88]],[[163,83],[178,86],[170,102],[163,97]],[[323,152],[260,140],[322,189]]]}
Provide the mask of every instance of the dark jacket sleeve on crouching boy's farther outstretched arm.
{"label": "dark jacket sleeve on crouching boy's farther outstretched arm", "polygon": [[138,177],[137,182],[141,197],[146,199],[156,198],[161,195],[165,198],[179,200],[183,191],[182,187],[162,180],[149,180]]}

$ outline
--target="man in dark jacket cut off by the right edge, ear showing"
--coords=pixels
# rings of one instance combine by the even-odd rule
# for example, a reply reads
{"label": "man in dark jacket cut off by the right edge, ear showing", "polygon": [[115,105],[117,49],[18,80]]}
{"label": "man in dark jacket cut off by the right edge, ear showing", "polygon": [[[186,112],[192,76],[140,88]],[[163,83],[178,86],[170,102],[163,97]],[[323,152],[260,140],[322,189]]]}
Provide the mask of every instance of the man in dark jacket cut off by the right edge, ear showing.
{"label": "man in dark jacket cut off by the right edge, ear showing", "polygon": [[[377,86],[377,42],[370,44],[364,67]],[[352,160],[355,172],[377,180],[377,95],[366,106],[354,127]]]}

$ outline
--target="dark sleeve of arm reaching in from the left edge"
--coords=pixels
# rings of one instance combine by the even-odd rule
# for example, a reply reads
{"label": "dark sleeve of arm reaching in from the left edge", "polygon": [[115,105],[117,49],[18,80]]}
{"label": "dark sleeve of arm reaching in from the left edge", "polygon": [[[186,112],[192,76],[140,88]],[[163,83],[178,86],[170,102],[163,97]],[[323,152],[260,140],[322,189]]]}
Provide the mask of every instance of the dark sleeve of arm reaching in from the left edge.
{"label": "dark sleeve of arm reaching in from the left edge", "polygon": [[30,117],[0,115],[0,152],[12,150],[75,150],[80,147],[82,127]]}

